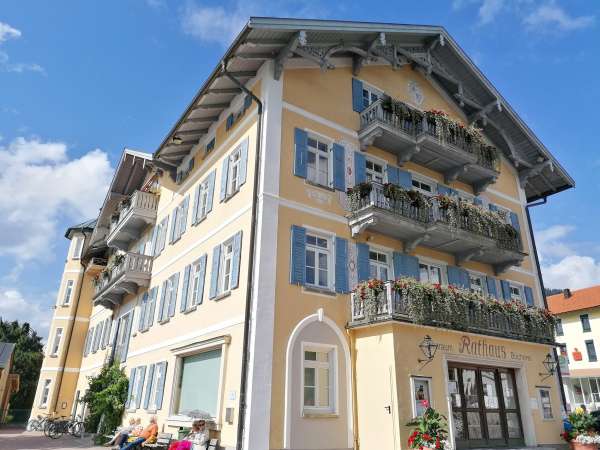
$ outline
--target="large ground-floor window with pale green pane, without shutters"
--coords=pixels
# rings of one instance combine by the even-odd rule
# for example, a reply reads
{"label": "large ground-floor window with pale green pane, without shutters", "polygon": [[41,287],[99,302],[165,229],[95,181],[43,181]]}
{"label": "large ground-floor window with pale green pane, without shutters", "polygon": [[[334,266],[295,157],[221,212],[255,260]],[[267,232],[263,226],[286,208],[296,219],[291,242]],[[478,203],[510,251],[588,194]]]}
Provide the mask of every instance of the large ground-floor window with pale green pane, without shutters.
{"label": "large ground-floor window with pale green pane, without shutters", "polygon": [[200,410],[206,411],[211,417],[217,416],[221,363],[221,348],[178,358],[175,414],[188,415],[193,410]]}

